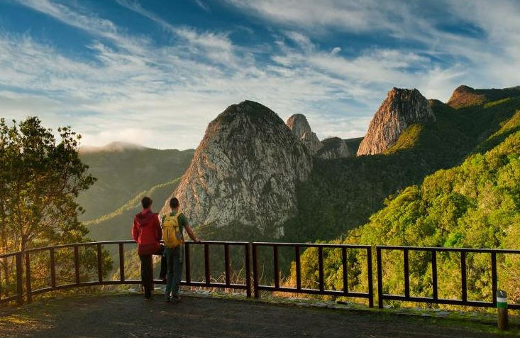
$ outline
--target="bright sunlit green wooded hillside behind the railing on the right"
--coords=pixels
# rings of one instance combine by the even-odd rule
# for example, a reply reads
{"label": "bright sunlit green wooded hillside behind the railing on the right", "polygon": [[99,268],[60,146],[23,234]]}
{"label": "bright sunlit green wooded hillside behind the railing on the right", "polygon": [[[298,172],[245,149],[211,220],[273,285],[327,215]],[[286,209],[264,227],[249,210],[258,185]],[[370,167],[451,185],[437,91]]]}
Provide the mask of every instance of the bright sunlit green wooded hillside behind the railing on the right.
{"label": "bright sunlit green wooded hillside behind the railing on the right", "polygon": [[[488,104],[475,116],[469,127],[477,130],[484,120],[499,121],[507,116],[502,109],[511,109],[518,98]],[[517,103],[518,104],[518,103]],[[486,116],[492,109],[495,116]],[[461,113],[477,113],[462,109]],[[473,248],[520,247],[520,111],[499,123],[499,130],[476,147],[460,165],[441,169],[426,176],[423,182],[409,185],[385,200],[385,207],[372,214],[367,224],[348,232],[350,244],[386,244],[404,246],[450,246]],[[482,149],[489,148],[481,153]],[[389,155],[390,156],[390,155]],[[341,258],[325,253],[325,276],[328,288],[342,288]],[[304,279],[316,280],[316,253],[306,251],[302,257]],[[410,254],[410,288],[412,295],[431,297],[431,259],[428,253]],[[468,298],[492,300],[489,255],[468,254]],[[349,255],[351,288],[366,288],[365,258],[358,253]],[[384,293],[402,294],[402,253],[389,251],[383,255]],[[513,255],[498,255],[499,288],[509,298],[520,300],[518,276],[520,260]],[[386,268],[385,268],[386,266]],[[293,272],[294,274],[294,272]],[[438,255],[439,297],[460,298],[460,257]]]}

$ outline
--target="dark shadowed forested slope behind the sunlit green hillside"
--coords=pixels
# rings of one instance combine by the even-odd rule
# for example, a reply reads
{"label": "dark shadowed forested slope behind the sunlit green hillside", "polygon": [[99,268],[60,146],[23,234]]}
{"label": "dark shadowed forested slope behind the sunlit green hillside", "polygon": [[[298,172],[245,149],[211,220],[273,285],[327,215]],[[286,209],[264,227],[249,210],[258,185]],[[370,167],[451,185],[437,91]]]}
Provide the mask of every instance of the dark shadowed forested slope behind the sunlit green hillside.
{"label": "dark shadowed forested slope behind the sunlit green hillside", "polygon": [[316,158],[311,175],[298,187],[298,214],[284,224],[284,241],[344,236],[384,208],[388,197],[504,141],[507,133],[496,133],[520,109],[519,95],[460,109],[438,100],[426,102],[436,120],[410,124],[383,153]]}

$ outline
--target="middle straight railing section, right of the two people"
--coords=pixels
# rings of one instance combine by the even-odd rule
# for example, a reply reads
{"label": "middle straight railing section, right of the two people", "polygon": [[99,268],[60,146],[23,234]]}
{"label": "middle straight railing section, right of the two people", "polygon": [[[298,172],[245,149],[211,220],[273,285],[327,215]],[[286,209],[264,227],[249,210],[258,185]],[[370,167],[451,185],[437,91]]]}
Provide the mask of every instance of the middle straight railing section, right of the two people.
{"label": "middle straight railing section, right of the two people", "polygon": [[[272,247],[273,257],[273,271],[275,285],[259,285],[260,278],[258,276],[258,246]],[[280,286],[280,268],[278,265],[278,248],[280,247],[294,248],[294,262],[296,270],[296,288],[287,288]],[[302,273],[300,264],[300,248],[318,248],[318,273],[319,273],[319,288],[302,288]],[[323,249],[341,249],[341,264],[343,268],[343,290],[325,290],[325,283],[323,283]],[[372,247],[367,245],[348,245],[348,244],[307,244],[307,243],[276,243],[276,242],[253,242],[253,287],[255,289],[255,298],[258,298],[259,290],[265,291],[281,291],[287,293],[307,293],[313,295],[336,295],[353,298],[367,298],[368,305],[374,306],[374,296],[372,293],[372,273],[367,273],[367,292],[358,293],[348,290],[348,249],[362,249],[366,251],[367,255],[367,271],[372,271]]]}

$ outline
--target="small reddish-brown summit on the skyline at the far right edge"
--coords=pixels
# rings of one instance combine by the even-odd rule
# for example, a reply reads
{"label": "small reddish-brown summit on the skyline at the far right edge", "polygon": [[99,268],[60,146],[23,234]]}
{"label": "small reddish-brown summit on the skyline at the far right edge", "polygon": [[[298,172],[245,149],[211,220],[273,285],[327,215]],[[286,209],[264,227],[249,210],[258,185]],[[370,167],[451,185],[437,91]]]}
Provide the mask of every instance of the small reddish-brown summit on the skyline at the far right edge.
{"label": "small reddish-brown summit on the skyline at the far right edge", "polygon": [[459,109],[518,96],[520,96],[520,86],[504,89],[475,89],[462,85],[453,91],[453,94],[451,94],[446,104],[455,109]]}

